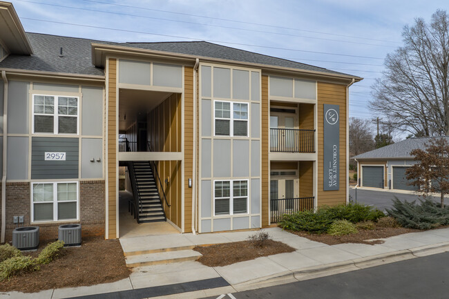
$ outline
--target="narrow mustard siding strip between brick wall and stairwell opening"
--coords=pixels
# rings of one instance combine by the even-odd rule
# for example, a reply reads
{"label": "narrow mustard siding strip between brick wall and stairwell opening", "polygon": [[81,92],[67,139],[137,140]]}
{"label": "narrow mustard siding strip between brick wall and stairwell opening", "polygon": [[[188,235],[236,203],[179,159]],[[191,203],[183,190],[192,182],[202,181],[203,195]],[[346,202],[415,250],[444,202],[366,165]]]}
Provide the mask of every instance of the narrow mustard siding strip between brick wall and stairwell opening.
{"label": "narrow mustard siding strip between brick wall and stairwell opening", "polygon": [[108,164],[106,166],[108,173],[108,231],[109,238],[118,238],[116,230],[116,196],[117,196],[117,60],[108,60]]}

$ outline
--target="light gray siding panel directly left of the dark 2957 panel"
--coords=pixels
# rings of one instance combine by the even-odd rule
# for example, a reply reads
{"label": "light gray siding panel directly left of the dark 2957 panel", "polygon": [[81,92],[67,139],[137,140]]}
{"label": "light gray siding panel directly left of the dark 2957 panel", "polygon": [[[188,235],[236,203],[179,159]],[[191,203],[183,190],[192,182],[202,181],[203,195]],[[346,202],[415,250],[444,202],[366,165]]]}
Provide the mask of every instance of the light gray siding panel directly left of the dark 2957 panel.
{"label": "light gray siding panel directly left of the dark 2957 panel", "polygon": [[28,137],[8,137],[8,180],[28,180]]}

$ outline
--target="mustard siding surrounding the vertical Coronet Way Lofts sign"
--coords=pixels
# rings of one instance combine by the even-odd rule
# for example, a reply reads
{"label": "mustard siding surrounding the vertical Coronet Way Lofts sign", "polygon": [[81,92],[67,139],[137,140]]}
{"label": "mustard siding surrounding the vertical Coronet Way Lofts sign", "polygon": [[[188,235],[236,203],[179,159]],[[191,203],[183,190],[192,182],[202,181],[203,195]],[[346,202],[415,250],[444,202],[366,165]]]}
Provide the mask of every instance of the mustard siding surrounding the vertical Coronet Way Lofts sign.
{"label": "mustard siding surrounding the vertical Coronet Way Lofts sign", "polygon": [[[318,82],[318,206],[346,203],[346,86]],[[340,188],[337,191],[323,191],[323,150],[324,150],[324,108],[323,104],[340,106]]]}

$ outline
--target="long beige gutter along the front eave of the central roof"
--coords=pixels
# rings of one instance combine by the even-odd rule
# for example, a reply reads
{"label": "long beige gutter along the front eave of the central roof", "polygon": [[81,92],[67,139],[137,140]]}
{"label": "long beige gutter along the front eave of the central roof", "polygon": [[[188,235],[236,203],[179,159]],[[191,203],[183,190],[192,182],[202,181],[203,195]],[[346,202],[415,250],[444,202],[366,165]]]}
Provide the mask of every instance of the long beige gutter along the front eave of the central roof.
{"label": "long beige gutter along the front eave of the central roof", "polygon": [[277,71],[283,71],[283,72],[294,72],[294,73],[303,73],[305,75],[316,75],[319,77],[327,77],[330,79],[354,79],[355,81],[361,81],[362,77],[352,76],[352,75],[343,75],[343,74],[331,74],[331,73],[325,73],[325,72],[318,72],[316,70],[301,70],[299,68],[285,68],[282,66],[270,66],[267,64],[256,64],[251,62],[243,62],[243,61],[236,61],[231,59],[220,59],[220,58],[213,58],[213,57],[204,57],[197,55],[188,55],[188,54],[180,54],[180,53],[173,53],[173,52],[164,52],[164,51],[157,51],[157,50],[148,50],[148,49],[140,49],[140,48],[130,48],[130,47],[124,47],[124,46],[113,46],[113,45],[106,45],[106,44],[91,44],[92,47],[92,63],[94,66],[102,66],[104,64],[104,58],[106,55],[101,55],[99,59],[102,59],[102,61],[97,61],[97,55],[95,55],[95,51],[108,51],[116,54],[140,54],[140,55],[155,55],[160,57],[172,57],[173,59],[201,59],[203,61],[214,61],[214,62],[222,62],[224,64],[240,64],[243,66],[252,66],[254,68],[263,68],[265,70],[277,70]]}

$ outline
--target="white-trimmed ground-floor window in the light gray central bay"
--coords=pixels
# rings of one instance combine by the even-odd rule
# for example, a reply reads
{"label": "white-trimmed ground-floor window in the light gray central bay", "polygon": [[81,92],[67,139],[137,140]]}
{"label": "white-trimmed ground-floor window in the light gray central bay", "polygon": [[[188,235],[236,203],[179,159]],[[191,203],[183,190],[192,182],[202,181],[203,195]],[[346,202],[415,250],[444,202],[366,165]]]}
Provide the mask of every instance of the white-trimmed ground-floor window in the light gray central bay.
{"label": "white-trimmed ground-floor window in the light gray central bay", "polygon": [[248,180],[214,182],[214,215],[248,213]]}

